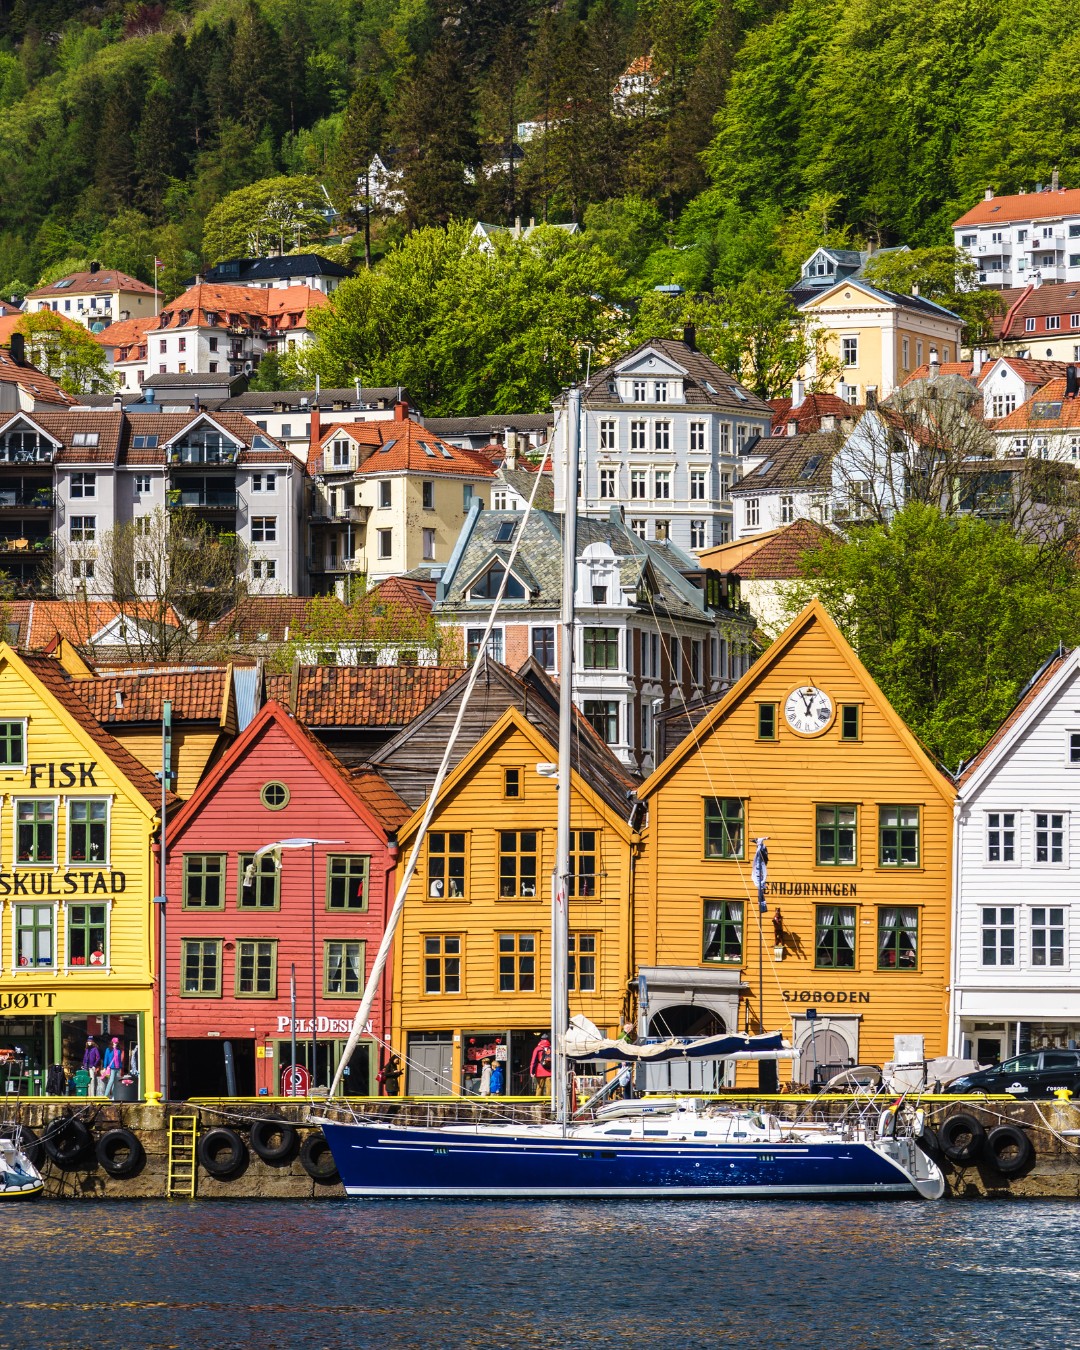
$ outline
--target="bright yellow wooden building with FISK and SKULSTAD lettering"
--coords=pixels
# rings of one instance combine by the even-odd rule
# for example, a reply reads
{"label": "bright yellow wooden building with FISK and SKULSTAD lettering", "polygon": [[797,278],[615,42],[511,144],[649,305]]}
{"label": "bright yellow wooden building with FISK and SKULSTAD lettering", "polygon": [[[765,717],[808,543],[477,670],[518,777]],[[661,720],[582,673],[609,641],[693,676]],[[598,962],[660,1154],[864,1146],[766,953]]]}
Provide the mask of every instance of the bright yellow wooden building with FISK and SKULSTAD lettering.
{"label": "bright yellow wooden building with FISK and SKULSTAD lettering", "polygon": [[58,660],[0,643],[0,1092],[39,1094],[113,1037],[155,1085],[159,799]]}

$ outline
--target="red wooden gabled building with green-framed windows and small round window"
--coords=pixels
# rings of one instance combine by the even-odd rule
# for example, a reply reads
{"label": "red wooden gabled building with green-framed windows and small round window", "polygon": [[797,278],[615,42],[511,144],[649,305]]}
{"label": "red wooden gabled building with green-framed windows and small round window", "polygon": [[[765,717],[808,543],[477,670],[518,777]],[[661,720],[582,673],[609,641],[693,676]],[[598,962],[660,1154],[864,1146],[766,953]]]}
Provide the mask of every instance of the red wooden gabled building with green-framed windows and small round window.
{"label": "red wooden gabled building with green-framed windows and small round window", "polygon": [[[293,1033],[312,1085],[329,1083],[393,903],[394,830],[410,814],[281,703],[262,707],[169,825],[171,1098],[281,1094]],[[387,967],[373,1037],[389,1027],[389,984]],[[378,1061],[364,1038],[344,1091],[371,1092]]]}

